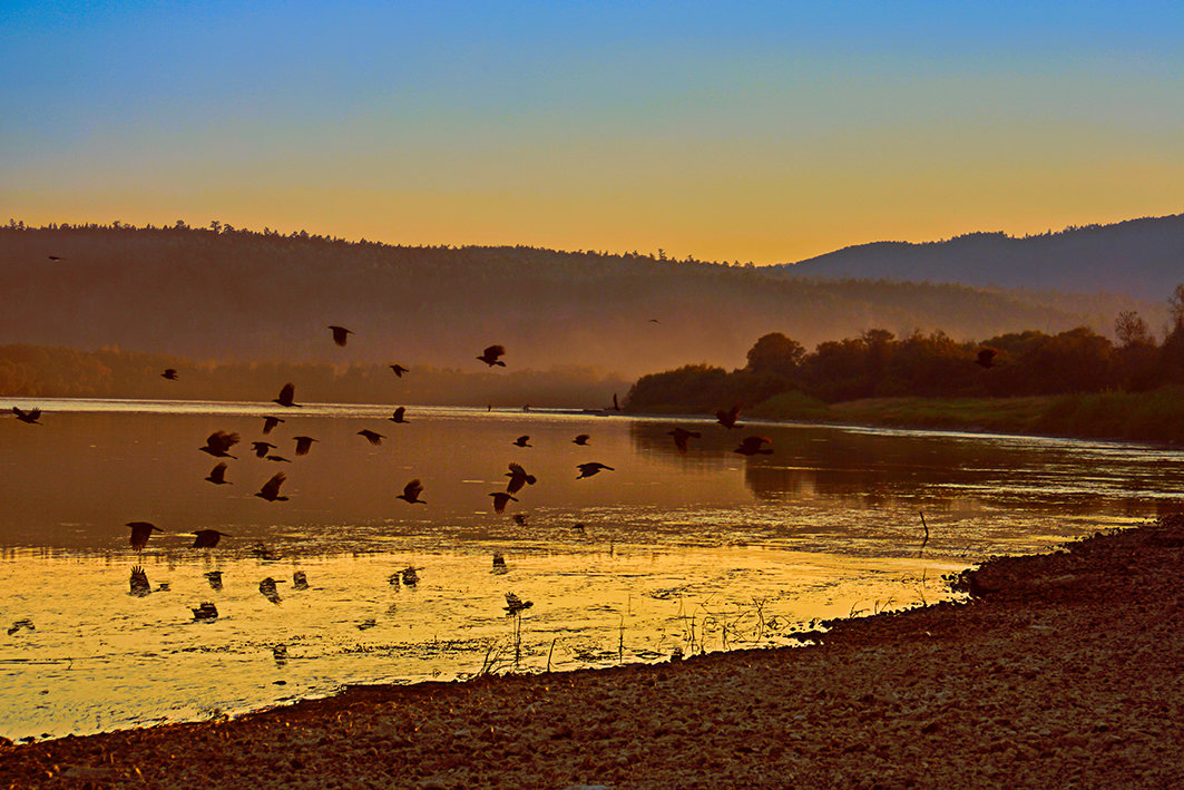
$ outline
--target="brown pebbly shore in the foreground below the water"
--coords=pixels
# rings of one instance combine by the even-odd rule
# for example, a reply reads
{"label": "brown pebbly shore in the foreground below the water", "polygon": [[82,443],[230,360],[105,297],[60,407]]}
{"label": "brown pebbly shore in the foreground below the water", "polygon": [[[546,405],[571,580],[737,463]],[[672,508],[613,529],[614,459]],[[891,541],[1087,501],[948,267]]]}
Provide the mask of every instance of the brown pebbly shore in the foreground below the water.
{"label": "brown pebbly shore in the foreground below the water", "polygon": [[1171,516],[991,560],[963,578],[969,603],[799,649],[4,745],[0,786],[1178,786],[1182,565]]}

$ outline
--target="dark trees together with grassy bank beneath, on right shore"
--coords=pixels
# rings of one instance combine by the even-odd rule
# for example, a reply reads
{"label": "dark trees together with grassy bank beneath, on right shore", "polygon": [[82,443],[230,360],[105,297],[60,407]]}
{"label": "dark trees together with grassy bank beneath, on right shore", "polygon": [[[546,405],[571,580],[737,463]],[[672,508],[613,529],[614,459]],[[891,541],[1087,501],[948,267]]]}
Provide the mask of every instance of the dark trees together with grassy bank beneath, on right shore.
{"label": "dark trees together with grassy bank beneath, on right shore", "polygon": [[[941,332],[896,338],[871,329],[807,353],[781,333],[761,336],[747,365],[642,377],[626,409],[1184,442],[1184,284],[1157,340],[1134,311],[1112,341],[1085,327],[958,342]],[[993,351],[990,360],[979,353]],[[986,361],[987,364],[983,364]]]}

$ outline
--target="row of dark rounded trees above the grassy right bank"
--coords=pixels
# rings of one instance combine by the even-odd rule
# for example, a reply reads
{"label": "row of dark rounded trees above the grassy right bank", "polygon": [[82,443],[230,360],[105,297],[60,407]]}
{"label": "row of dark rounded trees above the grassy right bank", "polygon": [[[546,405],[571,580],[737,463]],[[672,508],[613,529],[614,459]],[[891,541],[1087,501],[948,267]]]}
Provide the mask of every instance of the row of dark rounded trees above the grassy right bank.
{"label": "row of dark rounded trees above the grassy right bank", "polygon": [[[1146,392],[1184,384],[1184,284],[1169,300],[1170,323],[1158,340],[1133,310],[1114,321],[1111,340],[1077,327],[959,342],[944,332],[896,338],[884,329],[818,343],[812,353],[783,333],[762,335],[738,370],[699,364],[644,375],[629,392],[630,411],[713,412],[749,407],[800,392],[824,403],[886,397],[1019,397]],[[990,367],[978,364],[993,349]]]}

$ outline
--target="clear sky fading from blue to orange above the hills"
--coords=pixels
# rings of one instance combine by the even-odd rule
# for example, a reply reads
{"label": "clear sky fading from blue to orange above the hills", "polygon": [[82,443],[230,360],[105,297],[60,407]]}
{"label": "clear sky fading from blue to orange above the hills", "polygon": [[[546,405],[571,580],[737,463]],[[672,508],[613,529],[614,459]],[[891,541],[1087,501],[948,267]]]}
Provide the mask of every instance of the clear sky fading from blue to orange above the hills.
{"label": "clear sky fading from blue to orange above the hills", "polygon": [[0,221],[778,263],[1184,211],[1184,4],[0,6]]}

